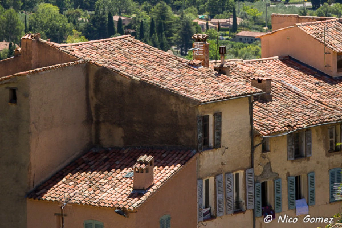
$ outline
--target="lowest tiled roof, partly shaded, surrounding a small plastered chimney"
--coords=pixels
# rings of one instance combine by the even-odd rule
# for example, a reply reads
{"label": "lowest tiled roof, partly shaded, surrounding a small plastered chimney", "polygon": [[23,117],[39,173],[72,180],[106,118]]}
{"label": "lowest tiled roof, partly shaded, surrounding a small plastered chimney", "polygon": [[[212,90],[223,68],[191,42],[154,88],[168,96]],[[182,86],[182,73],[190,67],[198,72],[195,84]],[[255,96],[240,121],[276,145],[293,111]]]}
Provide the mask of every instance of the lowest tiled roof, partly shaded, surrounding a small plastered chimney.
{"label": "lowest tiled roof, partly shaded, surrounding a small plastered chimney", "polygon": [[[196,151],[113,148],[91,150],[29,193],[28,198],[134,210],[174,176]],[[154,184],[133,190],[133,165],[141,155],[154,156]]]}

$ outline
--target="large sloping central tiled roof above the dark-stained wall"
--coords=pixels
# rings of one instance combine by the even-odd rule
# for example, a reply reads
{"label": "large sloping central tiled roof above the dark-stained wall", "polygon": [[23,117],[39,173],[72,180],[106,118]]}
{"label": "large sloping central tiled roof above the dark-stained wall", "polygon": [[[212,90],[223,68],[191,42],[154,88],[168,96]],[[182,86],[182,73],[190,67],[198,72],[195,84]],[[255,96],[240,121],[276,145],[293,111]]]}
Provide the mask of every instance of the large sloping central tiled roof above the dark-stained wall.
{"label": "large sloping central tiled roof above the dark-stained wall", "polygon": [[[208,102],[262,92],[241,77],[188,66],[187,59],[153,48],[130,35],[74,44],[46,42],[80,59],[89,59],[123,76],[155,84],[182,96]],[[238,72],[237,72],[238,74]]]}

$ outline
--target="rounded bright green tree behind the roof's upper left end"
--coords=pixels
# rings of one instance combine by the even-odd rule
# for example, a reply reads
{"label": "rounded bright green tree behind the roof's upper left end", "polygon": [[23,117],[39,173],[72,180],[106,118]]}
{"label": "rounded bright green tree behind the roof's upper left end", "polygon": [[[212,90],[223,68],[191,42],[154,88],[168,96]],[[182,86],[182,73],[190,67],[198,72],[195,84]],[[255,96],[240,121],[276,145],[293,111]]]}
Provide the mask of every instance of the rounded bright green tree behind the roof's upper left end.
{"label": "rounded bright green tree behind the roof's upper left end", "polygon": [[57,6],[41,3],[29,18],[29,24],[34,32],[40,32],[42,38],[50,38],[53,42],[64,41],[72,32],[73,26],[67,18],[59,13]]}

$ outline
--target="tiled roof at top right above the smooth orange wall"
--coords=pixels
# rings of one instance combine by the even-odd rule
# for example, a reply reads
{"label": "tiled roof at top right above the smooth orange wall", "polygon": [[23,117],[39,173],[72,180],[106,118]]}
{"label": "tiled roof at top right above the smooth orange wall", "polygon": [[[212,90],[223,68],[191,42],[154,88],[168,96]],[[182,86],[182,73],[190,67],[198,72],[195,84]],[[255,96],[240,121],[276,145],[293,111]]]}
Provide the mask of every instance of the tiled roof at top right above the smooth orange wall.
{"label": "tiled roof at top right above the smooth orange wall", "polygon": [[298,23],[296,26],[321,43],[324,43],[324,30],[327,28],[325,38],[327,47],[337,53],[342,52],[342,24],[339,19]]}

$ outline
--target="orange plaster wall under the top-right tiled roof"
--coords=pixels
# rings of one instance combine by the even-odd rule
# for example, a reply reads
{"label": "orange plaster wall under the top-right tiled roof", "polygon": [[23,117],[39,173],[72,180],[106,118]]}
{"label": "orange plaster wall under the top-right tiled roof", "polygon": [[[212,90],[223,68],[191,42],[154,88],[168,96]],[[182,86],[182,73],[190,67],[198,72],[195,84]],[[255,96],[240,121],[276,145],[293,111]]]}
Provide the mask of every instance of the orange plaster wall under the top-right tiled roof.
{"label": "orange plaster wall under the top-right tiled roof", "polygon": [[[279,45],[281,44],[281,45]],[[324,64],[324,44],[312,38],[298,27],[284,29],[261,38],[261,57],[290,55],[330,76],[340,76],[337,72],[337,53],[326,48]]]}

